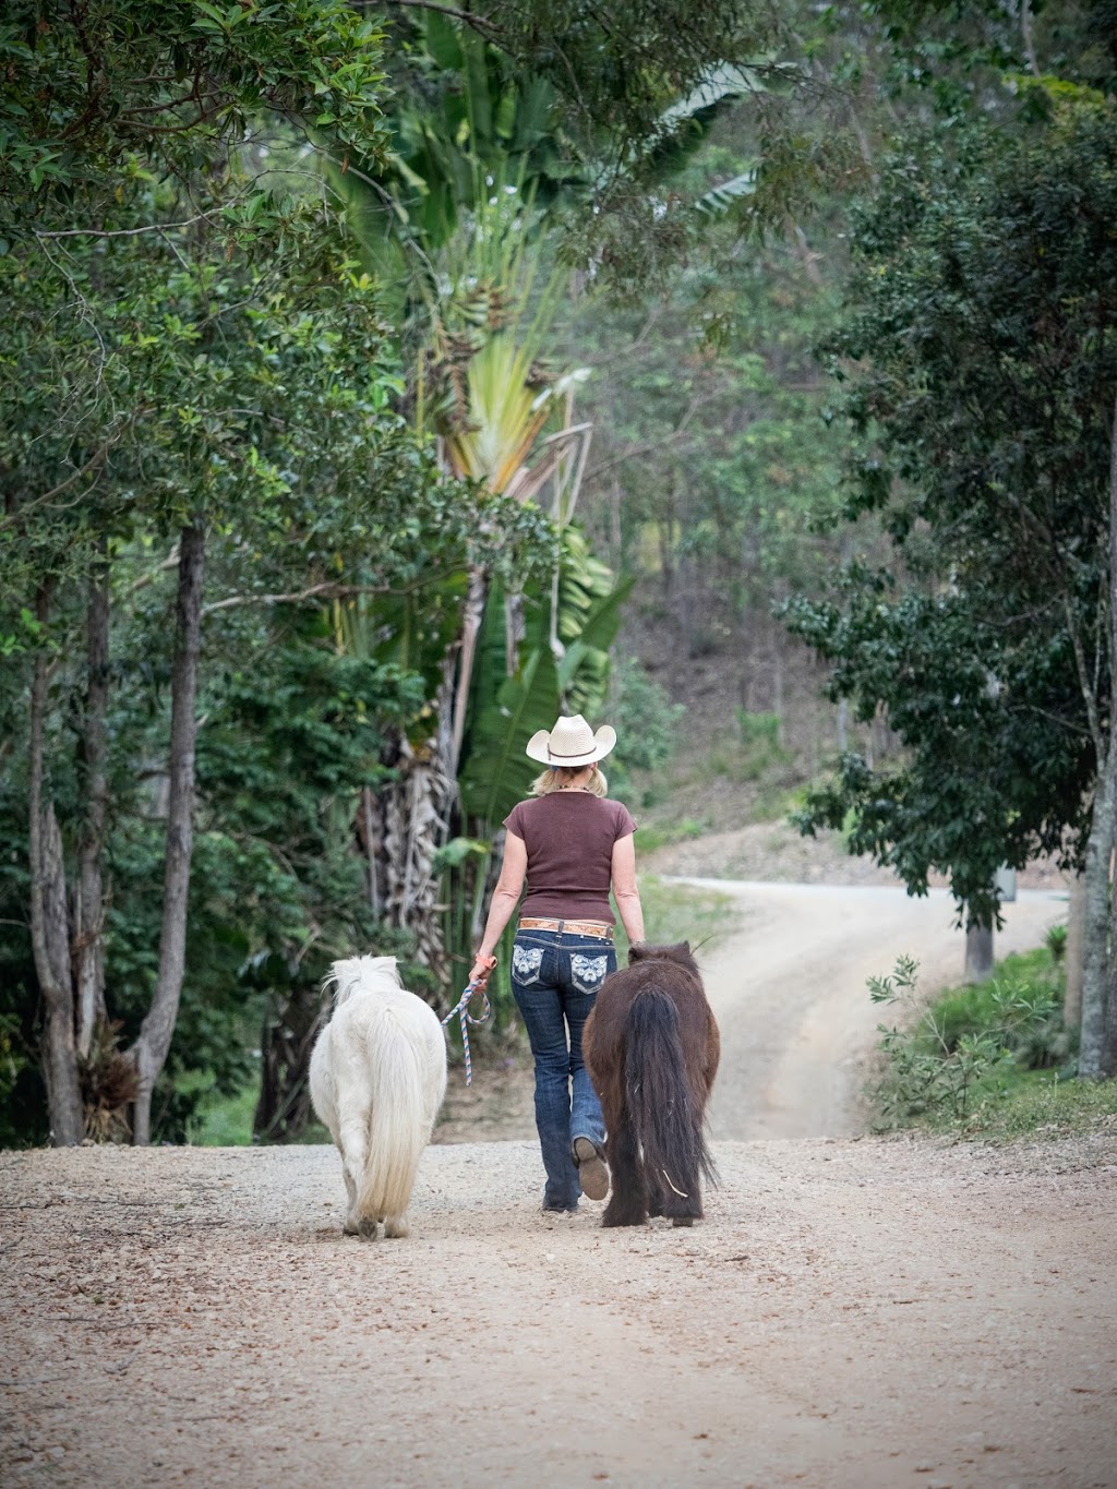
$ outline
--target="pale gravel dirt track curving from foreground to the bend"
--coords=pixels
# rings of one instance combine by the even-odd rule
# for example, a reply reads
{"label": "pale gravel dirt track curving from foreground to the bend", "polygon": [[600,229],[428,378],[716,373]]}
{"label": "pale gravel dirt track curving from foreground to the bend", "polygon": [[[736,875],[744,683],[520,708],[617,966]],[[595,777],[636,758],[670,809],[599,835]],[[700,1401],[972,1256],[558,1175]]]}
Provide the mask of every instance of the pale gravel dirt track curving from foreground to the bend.
{"label": "pale gravel dirt track curving from foreground to the bend", "polygon": [[430,1148],[375,1245],[329,1148],[0,1154],[0,1483],[1117,1485],[1117,1127],[727,1141],[846,1121],[856,978],[961,957],[944,904],[739,892],[691,1231],[544,1217],[535,1142]]}

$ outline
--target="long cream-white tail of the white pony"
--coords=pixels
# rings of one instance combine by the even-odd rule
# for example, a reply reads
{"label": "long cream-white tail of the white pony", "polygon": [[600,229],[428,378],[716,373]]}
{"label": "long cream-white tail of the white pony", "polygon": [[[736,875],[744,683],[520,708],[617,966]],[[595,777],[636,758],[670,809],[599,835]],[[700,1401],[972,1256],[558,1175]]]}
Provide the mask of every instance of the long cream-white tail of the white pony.
{"label": "long cream-white tail of the white pony", "polygon": [[381,1017],[381,1038],[369,1041],[368,1155],[357,1179],[357,1215],[372,1224],[407,1211],[430,1136],[421,1051],[390,1010]]}

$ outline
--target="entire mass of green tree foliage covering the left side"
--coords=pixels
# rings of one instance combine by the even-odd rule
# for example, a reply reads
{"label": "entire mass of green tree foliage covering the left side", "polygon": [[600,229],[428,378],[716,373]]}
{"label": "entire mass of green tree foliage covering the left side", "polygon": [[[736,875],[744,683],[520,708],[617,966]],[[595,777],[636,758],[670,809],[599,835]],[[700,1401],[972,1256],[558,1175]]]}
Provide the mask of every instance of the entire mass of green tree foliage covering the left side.
{"label": "entire mass of green tree foliage covering the left side", "polygon": [[[340,0],[280,3],[249,24],[243,7],[191,0],[85,13],[79,33],[51,7],[15,42],[10,7],[0,22],[15,46],[0,128],[6,1117],[24,1136],[42,1130],[25,929],[30,669],[48,654],[46,789],[73,867],[83,610],[89,576],[107,570],[107,1001],[127,1041],[158,960],[174,542],[200,518],[188,969],[155,1099],[156,1130],[174,1136],[204,1090],[198,1072],[217,1091],[244,1080],[264,996],[299,978],[313,987],[332,954],[384,943],[354,807],[384,780],[386,730],[408,728],[429,697],[416,648],[389,634],[395,613],[416,622],[411,640],[439,631],[420,591],[471,561],[532,575],[548,545],[538,512],[439,475],[399,412],[380,292],[344,225],[292,191],[292,171],[262,174],[264,150],[246,143],[271,128],[289,144],[281,118],[329,133],[340,159],[354,146],[377,159],[378,28]],[[33,179],[28,150],[49,155],[54,176]],[[326,624],[322,606],[381,594],[375,645],[338,655],[341,615]]]}

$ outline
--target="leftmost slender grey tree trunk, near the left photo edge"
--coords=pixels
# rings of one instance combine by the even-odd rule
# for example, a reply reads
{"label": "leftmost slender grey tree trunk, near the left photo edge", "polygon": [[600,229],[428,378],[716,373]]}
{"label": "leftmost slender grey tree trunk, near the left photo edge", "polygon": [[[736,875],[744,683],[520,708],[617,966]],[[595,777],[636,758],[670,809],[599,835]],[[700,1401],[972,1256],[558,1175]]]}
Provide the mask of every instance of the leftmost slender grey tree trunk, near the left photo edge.
{"label": "leftmost slender grey tree trunk, near the left photo edge", "polygon": [[[46,621],[51,608],[48,587],[39,591],[36,615]],[[85,1136],[82,1087],[77,1078],[77,1048],[73,1033],[73,977],[70,972],[70,917],[66,908],[63,835],[54,803],[43,806],[43,715],[46,712],[46,657],[34,660],[31,682],[31,782],[30,834],[31,946],[39,989],[43,995],[43,1081],[51,1123],[51,1142],[58,1148]]]}

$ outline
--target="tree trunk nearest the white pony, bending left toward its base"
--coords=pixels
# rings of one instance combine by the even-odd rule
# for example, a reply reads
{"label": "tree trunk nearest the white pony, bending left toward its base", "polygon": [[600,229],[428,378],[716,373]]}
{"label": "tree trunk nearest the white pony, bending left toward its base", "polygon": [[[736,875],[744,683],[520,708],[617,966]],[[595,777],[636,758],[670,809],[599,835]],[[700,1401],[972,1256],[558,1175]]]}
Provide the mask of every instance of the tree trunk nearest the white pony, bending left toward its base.
{"label": "tree trunk nearest the white pony, bending left toward its base", "polygon": [[183,529],[179,546],[179,602],[171,673],[170,801],[159,974],[152,1005],[131,1051],[140,1081],[133,1120],[133,1142],[137,1145],[150,1142],[152,1090],[171,1047],[186,969],[186,899],[194,847],[194,744],[198,733],[195,700],[204,557],[206,533],[201,520],[195,520],[191,527]]}

